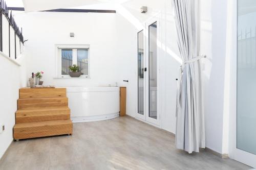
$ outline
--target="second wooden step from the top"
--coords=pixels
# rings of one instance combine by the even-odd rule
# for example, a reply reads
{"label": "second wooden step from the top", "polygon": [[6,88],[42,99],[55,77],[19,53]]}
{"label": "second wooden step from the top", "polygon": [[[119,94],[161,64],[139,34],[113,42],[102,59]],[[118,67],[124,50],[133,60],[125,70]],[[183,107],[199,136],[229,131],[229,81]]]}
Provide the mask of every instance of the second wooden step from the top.
{"label": "second wooden step from the top", "polygon": [[18,99],[18,110],[52,107],[68,107],[67,97]]}

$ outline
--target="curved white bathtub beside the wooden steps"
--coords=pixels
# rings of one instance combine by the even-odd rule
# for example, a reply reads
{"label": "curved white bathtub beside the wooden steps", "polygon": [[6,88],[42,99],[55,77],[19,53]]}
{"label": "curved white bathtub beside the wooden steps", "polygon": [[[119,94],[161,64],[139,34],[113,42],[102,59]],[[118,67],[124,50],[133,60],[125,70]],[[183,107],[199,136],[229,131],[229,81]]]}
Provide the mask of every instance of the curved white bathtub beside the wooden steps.
{"label": "curved white bathtub beside the wooden steps", "polygon": [[119,116],[119,87],[66,88],[72,122],[93,122]]}

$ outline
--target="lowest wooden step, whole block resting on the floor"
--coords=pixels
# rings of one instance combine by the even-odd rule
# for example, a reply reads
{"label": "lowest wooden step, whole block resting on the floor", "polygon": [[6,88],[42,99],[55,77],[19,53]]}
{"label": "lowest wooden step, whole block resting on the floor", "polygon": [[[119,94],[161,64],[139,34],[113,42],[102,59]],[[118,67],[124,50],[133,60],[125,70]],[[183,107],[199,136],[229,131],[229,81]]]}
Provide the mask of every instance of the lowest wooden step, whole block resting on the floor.
{"label": "lowest wooden step, whole block resting on the floor", "polygon": [[14,139],[27,139],[72,133],[73,124],[71,120],[16,124],[13,128]]}

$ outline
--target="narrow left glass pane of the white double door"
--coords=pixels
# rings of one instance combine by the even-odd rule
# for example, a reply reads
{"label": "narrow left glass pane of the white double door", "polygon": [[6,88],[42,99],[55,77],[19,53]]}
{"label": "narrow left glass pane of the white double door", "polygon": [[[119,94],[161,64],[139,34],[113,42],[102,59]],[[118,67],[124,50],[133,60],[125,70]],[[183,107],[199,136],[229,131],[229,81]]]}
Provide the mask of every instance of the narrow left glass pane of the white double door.
{"label": "narrow left glass pane of the white double door", "polygon": [[138,113],[144,115],[144,38],[143,30],[138,33]]}

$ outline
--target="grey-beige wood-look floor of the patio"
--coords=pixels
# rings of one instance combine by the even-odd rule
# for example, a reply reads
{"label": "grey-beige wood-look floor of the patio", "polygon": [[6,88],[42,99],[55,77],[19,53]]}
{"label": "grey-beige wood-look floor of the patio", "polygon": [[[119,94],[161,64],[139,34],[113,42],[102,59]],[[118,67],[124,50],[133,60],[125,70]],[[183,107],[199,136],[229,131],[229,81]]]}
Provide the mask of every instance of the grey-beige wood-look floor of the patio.
{"label": "grey-beige wood-look floor of the patio", "polygon": [[174,136],[130,117],[74,124],[73,136],[13,142],[0,169],[251,169],[175,149]]}

